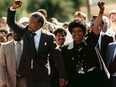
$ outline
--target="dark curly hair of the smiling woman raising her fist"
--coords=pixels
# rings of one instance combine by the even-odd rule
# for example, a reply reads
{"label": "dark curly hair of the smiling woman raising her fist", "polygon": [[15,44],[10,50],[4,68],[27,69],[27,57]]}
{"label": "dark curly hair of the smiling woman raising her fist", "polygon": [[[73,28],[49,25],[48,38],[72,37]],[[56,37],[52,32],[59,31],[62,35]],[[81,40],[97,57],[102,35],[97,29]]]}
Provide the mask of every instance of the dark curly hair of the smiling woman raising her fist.
{"label": "dark curly hair of the smiling woman raising her fist", "polygon": [[86,22],[80,18],[74,19],[69,23],[68,30],[72,33],[73,28],[80,27],[83,30],[83,33],[86,34]]}

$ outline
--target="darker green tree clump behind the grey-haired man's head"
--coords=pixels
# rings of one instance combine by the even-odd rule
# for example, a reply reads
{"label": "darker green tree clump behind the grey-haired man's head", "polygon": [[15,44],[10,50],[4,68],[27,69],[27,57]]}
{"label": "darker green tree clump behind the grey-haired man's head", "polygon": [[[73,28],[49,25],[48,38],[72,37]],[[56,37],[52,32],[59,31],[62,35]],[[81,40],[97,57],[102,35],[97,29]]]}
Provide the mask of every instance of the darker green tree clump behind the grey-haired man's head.
{"label": "darker green tree clump behind the grey-haired man's head", "polygon": [[28,11],[37,11],[40,8],[46,9],[48,19],[56,17],[60,21],[70,20],[73,13],[72,0],[29,0]]}

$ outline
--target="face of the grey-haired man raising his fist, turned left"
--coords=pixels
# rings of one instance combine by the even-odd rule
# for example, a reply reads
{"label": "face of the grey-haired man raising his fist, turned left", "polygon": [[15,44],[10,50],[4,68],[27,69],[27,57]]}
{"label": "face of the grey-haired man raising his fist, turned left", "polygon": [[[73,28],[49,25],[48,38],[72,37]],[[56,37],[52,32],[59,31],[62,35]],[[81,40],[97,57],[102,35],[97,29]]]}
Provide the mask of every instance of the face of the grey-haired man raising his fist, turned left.
{"label": "face of the grey-haired man raising his fist, turned left", "polygon": [[41,28],[42,23],[38,22],[37,19],[34,16],[31,16],[29,19],[29,31],[36,32],[38,29]]}

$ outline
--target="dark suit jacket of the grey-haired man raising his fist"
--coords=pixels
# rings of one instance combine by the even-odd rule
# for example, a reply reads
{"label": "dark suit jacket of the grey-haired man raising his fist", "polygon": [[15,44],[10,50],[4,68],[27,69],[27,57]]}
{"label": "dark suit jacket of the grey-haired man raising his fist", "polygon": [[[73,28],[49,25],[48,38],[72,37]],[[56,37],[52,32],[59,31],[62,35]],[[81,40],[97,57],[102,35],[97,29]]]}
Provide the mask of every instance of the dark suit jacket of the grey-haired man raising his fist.
{"label": "dark suit jacket of the grey-haired man raising his fist", "polygon": [[[60,77],[66,77],[63,58],[53,41],[53,36],[42,31],[38,52],[34,52],[30,45],[31,32],[28,30],[28,26],[23,28],[15,23],[15,12],[8,9],[7,23],[15,33],[23,38],[24,42],[18,74],[26,77],[32,76],[33,79],[48,80],[50,75],[46,64],[50,54],[57,64]],[[32,60],[33,68],[31,68]]]}

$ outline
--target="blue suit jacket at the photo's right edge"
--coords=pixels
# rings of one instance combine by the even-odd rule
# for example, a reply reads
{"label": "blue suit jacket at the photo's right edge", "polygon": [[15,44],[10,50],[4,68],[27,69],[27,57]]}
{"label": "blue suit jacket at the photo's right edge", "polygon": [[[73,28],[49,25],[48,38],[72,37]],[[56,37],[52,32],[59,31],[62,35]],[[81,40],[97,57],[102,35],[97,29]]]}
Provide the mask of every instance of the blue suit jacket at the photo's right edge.
{"label": "blue suit jacket at the photo's right edge", "polygon": [[108,45],[108,49],[107,49],[107,67],[108,68],[109,68],[110,63],[113,62],[112,58],[114,58],[115,49],[116,49],[116,42],[112,42]]}

